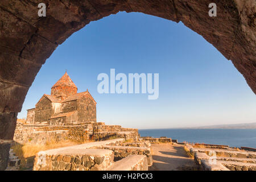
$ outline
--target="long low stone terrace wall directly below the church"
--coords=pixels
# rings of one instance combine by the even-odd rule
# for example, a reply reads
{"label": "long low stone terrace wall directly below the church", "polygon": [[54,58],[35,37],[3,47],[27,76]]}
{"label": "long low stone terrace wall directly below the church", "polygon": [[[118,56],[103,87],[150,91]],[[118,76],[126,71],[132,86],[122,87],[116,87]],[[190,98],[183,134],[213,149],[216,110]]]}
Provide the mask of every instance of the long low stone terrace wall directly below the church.
{"label": "long low stone terrace wall directly below the church", "polygon": [[[105,125],[105,123],[84,122],[84,123],[65,123],[64,126],[53,125],[23,125],[18,123],[16,126],[14,140],[18,143],[36,143],[31,142],[31,138],[34,137],[38,131],[56,131],[66,130],[68,131],[69,140],[75,140],[77,142],[85,142],[88,140],[108,140],[111,138],[125,138],[138,140],[139,134],[137,129],[124,129],[118,125]],[[104,132],[98,132],[104,131]],[[40,140],[40,134],[42,138],[48,137],[46,133],[36,133],[36,140]],[[33,135],[33,136],[31,136]],[[66,136],[65,136],[66,137]],[[42,140],[50,140],[42,139]],[[39,142],[40,143],[40,142]]]}

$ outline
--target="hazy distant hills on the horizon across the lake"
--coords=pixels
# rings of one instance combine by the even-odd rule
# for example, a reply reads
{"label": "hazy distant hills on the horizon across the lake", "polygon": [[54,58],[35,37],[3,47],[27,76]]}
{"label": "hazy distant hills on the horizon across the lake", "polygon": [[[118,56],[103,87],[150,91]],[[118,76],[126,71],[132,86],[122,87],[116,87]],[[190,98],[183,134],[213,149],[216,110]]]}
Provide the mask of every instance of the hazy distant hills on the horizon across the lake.
{"label": "hazy distant hills on the horizon across the lake", "polygon": [[233,125],[210,125],[199,127],[186,127],[187,129],[256,129],[256,123],[241,123]]}

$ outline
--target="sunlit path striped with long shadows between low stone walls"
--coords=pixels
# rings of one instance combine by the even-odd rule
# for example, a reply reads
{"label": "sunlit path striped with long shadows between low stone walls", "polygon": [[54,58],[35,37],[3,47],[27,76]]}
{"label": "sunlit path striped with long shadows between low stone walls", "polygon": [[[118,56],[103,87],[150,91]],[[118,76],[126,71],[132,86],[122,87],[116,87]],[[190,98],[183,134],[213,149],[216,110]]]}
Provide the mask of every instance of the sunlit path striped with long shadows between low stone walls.
{"label": "sunlit path striped with long shadows between low stone walls", "polygon": [[152,171],[199,170],[192,158],[189,158],[182,144],[151,144]]}

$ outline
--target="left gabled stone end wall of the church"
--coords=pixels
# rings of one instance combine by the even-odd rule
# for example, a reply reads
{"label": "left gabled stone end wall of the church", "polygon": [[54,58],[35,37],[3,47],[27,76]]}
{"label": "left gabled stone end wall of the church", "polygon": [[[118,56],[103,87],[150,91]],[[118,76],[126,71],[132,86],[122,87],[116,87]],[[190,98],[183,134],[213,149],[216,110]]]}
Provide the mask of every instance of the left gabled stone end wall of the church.
{"label": "left gabled stone end wall of the church", "polygon": [[43,96],[35,107],[35,123],[48,122],[48,119],[51,118],[51,113],[51,101]]}

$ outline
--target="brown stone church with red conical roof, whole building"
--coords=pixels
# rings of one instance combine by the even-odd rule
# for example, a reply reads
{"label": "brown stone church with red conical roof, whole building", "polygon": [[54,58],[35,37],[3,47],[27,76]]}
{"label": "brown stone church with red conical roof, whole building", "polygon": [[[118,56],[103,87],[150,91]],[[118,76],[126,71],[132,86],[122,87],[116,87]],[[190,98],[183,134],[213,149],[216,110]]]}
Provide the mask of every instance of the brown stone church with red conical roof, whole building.
{"label": "brown stone church with red conical roof, whole building", "polygon": [[35,108],[27,110],[27,123],[64,125],[65,123],[96,122],[96,101],[77,87],[66,72],[55,85],[51,95],[44,94]]}

